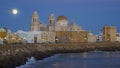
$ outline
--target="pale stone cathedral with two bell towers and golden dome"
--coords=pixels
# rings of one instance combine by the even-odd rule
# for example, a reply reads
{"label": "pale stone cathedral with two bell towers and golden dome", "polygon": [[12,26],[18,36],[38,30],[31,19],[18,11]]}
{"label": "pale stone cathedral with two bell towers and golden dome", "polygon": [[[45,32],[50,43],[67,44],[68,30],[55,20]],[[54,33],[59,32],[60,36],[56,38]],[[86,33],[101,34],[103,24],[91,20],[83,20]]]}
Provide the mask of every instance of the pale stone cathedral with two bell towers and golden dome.
{"label": "pale stone cathedral with two bell towers and golden dome", "polygon": [[34,11],[32,14],[31,31],[81,31],[74,21],[69,24],[67,17],[59,16],[57,19],[54,14],[51,13],[48,18],[48,24],[43,24],[39,20],[39,14]]}

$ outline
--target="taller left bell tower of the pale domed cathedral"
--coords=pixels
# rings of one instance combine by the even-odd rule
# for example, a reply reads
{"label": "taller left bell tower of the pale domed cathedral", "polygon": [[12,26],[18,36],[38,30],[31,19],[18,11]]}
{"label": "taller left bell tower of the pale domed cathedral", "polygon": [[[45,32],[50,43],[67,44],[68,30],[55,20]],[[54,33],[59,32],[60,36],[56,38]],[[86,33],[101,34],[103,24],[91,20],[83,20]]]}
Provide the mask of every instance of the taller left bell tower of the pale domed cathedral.
{"label": "taller left bell tower of the pale domed cathedral", "polygon": [[39,15],[37,11],[34,11],[32,15],[31,31],[39,31]]}

